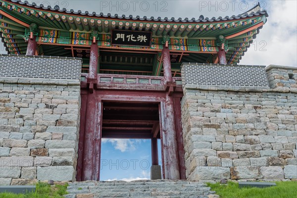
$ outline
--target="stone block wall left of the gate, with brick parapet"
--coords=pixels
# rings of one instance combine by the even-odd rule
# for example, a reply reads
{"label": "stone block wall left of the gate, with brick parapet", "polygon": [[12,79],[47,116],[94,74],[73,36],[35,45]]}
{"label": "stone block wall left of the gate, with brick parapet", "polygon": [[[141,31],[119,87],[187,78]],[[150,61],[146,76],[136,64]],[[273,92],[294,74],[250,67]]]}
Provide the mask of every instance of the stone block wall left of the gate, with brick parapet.
{"label": "stone block wall left of the gate, with brick parapet", "polygon": [[[40,64],[47,67],[43,74],[32,70]],[[81,59],[3,55],[0,69],[4,65],[0,76],[0,185],[74,181]],[[72,71],[70,78],[54,72],[61,65]],[[26,78],[30,70],[31,78]],[[17,77],[11,77],[13,71]]]}

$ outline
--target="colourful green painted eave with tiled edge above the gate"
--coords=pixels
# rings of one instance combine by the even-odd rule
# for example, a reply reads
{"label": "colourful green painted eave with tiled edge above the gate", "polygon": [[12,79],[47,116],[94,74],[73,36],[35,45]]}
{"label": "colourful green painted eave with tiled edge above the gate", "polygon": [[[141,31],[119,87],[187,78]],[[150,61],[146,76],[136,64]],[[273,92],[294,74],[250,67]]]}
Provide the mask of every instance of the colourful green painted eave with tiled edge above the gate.
{"label": "colourful green painted eave with tiled edge above the gate", "polygon": [[[199,52],[216,54],[219,46],[219,36],[224,36],[227,63],[236,64],[247,51],[249,44],[259,33],[259,29],[266,22],[268,14],[257,5],[247,12],[231,17],[212,17],[199,19],[164,19],[140,18],[129,15],[111,16],[103,13],[82,13],[80,10],[59,9],[44,7],[36,3],[20,0],[0,0],[0,31],[2,42],[9,53],[26,53],[27,44],[20,35],[30,32],[32,23],[37,25],[36,41],[39,45],[59,46],[90,46],[93,31],[99,33],[99,48],[114,47],[110,43],[110,34],[113,29],[136,30],[152,32],[150,48],[130,48],[131,50],[151,49],[160,51],[163,48],[162,37],[171,39],[169,49],[179,52]],[[47,54],[47,47],[44,55]],[[64,51],[65,53],[65,51]],[[68,53],[65,53],[65,56]],[[212,63],[215,57],[208,57],[204,61]]]}

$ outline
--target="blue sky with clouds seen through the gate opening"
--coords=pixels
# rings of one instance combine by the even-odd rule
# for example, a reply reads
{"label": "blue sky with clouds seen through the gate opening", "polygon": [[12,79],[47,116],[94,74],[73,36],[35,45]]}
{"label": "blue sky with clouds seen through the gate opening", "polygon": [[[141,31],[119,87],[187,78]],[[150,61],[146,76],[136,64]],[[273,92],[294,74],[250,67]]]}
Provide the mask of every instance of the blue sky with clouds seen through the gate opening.
{"label": "blue sky with clouds seen through the gate opening", "polygon": [[150,166],[150,140],[102,139],[100,180],[149,179]]}

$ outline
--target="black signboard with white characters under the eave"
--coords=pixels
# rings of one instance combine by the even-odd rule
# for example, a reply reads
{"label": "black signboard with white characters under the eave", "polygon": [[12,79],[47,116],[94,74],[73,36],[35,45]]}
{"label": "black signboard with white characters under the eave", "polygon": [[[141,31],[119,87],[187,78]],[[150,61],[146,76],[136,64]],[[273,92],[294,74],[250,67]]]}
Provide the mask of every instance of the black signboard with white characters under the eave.
{"label": "black signboard with white characters under the eave", "polygon": [[149,48],[150,42],[151,32],[131,30],[112,30],[111,32],[111,45]]}

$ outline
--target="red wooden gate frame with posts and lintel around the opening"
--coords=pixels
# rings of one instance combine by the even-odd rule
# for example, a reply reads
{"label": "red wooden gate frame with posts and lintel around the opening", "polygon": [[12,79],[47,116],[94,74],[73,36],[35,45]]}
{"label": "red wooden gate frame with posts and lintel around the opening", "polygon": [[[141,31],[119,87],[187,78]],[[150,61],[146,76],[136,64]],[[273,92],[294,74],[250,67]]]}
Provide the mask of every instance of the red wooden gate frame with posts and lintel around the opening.
{"label": "red wooden gate frame with posts and lintel around the opening", "polygon": [[[158,106],[158,128],[160,132],[159,138],[161,139],[163,179],[185,179],[181,97],[181,93],[174,92],[169,96],[167,91],[94,89],[93,93],[90,93],[88,89],[82,89],[77,181],[99,180],[102,118],[104,116],[103,104],[110,101],[137,102],[140,106],[145,103],[154,103]],[[154,130],[156,129],[151,130],[150,138],[157,136],[157,132]],[[148,134],[145,137],[149,138]],[[113,135],[112,138],[123,138],[123,136]]]}

